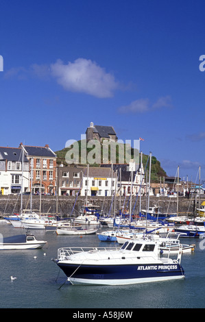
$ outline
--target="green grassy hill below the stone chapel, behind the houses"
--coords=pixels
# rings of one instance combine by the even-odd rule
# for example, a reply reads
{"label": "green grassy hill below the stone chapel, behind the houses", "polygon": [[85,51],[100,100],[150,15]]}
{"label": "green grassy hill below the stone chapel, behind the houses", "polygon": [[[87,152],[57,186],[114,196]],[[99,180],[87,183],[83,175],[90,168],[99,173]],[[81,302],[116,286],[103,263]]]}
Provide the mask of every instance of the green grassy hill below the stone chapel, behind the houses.
{"label": "green grassy hill below the stone chapel, behind the houses", "polygon": [[[110,163],[110,164],[128,163],[129,161],[125,159],[125,156],[129,156],[129,160],[130,158],[132,159],[134,156],[138,156],[138,151],[134,150],[132,147],[130,147],[129,149],[129,147],[128,146],[125,147],[125,145],[119,145],[119,146],[116,145],[116,151],[114,153],[114,162],[112,162],[113,155],[110,151],[110,147],[106,150],[106,153],[105,153],[106,145],[104,145],[104,143],[97,142],[97,146],[99,147],[98,149],[95,148],[95,145],[93,145],[93,147],[87,147],[86,141],[81,141],[81,140],[76,141],[70,147],[66,147],[62,150],[55,152],[57,155],[57,164],[64,164],[64,166],[67,166],[68,162],[66,159],[69,158],[69,164],[78,164],[78,165],[86,166],[89,159],[91,161],[89,162],[91,166],[99,166],[100,164],[105,163],[104,162],[105,154],[107,157],[106,160],[108,160],[108,162],[106,163]],[[85,160],[85,156],[81,156],[82,151],[84,152],[86,151],[86,160]],[[122,154],[122,151],[124,151],[123,154]],[[126,152],[128,154],[126,154]],[[124,156],[124,160],[121,160],[120,156]],[[148,155],[143,154],[143,166],[145,169],[145,165],[147,164],[147,173],[149,172],[149,161],[147,162],[148,158],[149,158]],[[93,163],[93,160],[97,160],[97,162]],[[152,156],[151,181],[159,182],[160,177],[167,177],[167,173],[164,171],[164,169],[162,169],[162,167],[160,166],[160,162],[156,159],[156,157]]]}

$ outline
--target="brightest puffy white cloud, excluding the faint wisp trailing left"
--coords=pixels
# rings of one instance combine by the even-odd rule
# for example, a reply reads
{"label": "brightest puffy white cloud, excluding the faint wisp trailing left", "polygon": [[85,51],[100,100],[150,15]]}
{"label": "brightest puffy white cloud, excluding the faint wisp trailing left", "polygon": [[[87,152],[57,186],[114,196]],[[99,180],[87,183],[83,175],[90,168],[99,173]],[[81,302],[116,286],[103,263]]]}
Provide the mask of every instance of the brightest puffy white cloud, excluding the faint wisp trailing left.
{"label": "brightest puffy white cloud, excluding the faint wisp trailing left", "polygon": [[73,63],[63,64],[58,60],[51,64],[51,75],[65,90],[84,92],[95,97],[112,97],[118,84],[114,76],[91,60],[78,58]]}

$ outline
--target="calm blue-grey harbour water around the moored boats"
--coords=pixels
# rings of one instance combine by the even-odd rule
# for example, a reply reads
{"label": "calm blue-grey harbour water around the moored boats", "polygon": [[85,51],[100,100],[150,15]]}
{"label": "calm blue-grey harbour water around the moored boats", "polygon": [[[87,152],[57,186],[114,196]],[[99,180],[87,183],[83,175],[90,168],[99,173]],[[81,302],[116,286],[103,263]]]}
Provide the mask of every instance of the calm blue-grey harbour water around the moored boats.
{"label": "calm blue-grey harbour water around the moored boats", "polygon": [[[0,232],[3,236],[12,236],[24,234],[25,230],[2,224]],[[0,251],[0,308],[205,308],[202,239],[183,240],[196,245],[193,253],[182,255],[184,280],[129,286],[73,286],[64,283],[67,277],[51,260],[56,258],[58,248],[110,247],[114,243],[100,242],[97,235],[58,236],[44,230],[32,230],[32,233],[38,240],[47,240],[47,247]],[[10,276],[16,280],[12,281]]]}

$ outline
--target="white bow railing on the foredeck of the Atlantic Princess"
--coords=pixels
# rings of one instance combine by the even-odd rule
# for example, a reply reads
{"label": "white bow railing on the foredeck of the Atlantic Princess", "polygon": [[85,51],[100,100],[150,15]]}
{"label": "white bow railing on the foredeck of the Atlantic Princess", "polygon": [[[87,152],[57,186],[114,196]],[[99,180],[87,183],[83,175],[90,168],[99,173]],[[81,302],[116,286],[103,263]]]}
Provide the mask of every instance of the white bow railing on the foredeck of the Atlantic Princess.
{"label": "white bow railing on the foredeck of the Atlantic Princess", "polygon": [[71,256],[75,253],[82,253],[83,251],[110,251],[117,250],[115,247],[63,247],[58,249],[58,260],[63,260],[67,256]]}

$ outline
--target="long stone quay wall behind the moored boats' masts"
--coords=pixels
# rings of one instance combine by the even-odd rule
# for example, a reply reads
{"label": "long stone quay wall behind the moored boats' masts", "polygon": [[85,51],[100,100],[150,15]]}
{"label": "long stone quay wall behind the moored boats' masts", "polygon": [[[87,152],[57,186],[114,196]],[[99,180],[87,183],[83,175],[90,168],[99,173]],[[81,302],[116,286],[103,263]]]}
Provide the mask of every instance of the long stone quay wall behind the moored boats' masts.
{"label": "long stone quay wall behind the moored boats' masts", "polygon": [[[32,210],[40,214],[52,214],[57,213],[62,217],[69,217],[71,214],[77,216],[80,214],[80,208],[85,204],[85,197],[72,197],[72,196],[60,196],[58,197],[58,202],[55,196],[42,196],[41,197],[41,208],[40,208],[40,196],[32,196]],[[88,201],[99,206],[104,213],[111,213],[111,209],[114,210],[114,201],[111,197],[88,197]],[[112,201],[112,202],[111,202]],[[203,196],[200,198],[200,203],[203,201]],[[130,201],[128,197],[120,198],[117,197],[115,200],[115,209],[119,210],[121,202],[121,207],[124,205],[128,207]],[[111,206],[112,203],[112,206]],[[73,208],[75,204],[75,207]],[[134,208],[134,214],[139,212],[140,199],[132,197],[132,209]],[[155,197],[150,196],[149,206],[160,206],[160,211],[163,213],[171,214],[177,211],[177,198],[176,197]],[[187,199],[185,197],[179,197],[178,202],[178,212],[181,215],[193,216],[195,208],[198,206],[198,201],[195,199]],[[13,213],[19,213],[21,207],[21,196],[20,195],[10,195],[10,196],[0,196],[0,216],[9,215]],[[141,198],[141,209],[147,208],[147,198],[144,196]],[[23,196],[23,209],[30,209],[30,199],[29,196]]]}

